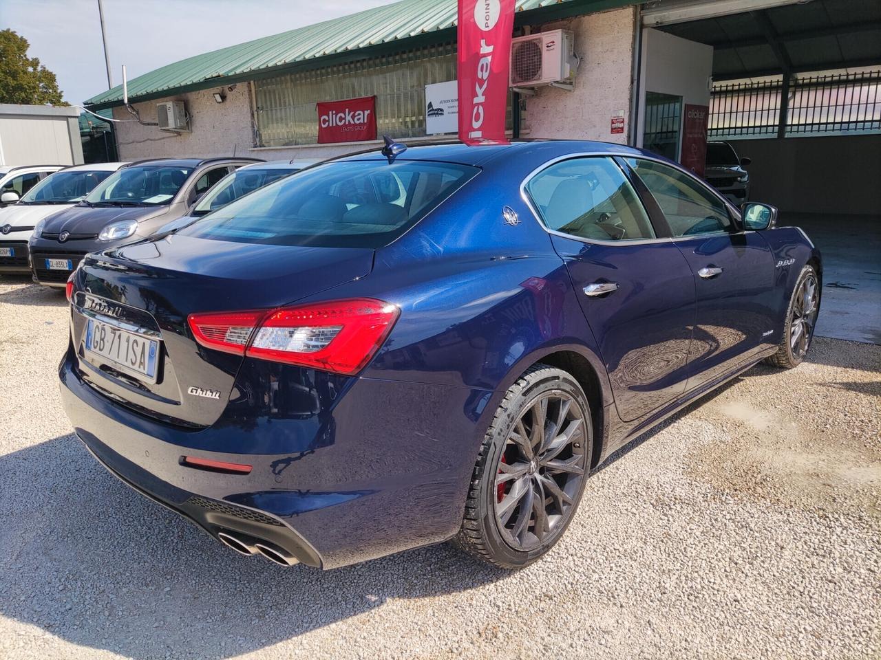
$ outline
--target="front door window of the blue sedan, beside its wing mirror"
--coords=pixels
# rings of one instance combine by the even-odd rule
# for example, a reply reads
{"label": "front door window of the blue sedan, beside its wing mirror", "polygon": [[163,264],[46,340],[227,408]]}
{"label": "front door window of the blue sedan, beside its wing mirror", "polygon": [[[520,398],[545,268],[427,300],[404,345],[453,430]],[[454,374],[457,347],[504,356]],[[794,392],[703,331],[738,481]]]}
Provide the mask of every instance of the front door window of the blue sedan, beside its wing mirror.
{"label": "front door window of the blue sedan, beside its wing mirror", "polygon": [[673,236],[734,231],[728,208],[700,181],[670,165],[628,158],[670,224]]}

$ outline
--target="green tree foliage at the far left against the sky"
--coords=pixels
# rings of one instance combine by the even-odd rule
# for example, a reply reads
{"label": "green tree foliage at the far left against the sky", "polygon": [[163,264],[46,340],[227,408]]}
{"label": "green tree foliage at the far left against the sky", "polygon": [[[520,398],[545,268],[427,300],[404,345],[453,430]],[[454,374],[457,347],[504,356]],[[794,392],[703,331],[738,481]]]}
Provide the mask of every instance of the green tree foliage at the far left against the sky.
{"label": "green tree foliage at the far left against the sky", "polygon": [[12,30],[0,30],[0,103],[68,105],[55,74],[36,57],[27,56],[29,46]]}

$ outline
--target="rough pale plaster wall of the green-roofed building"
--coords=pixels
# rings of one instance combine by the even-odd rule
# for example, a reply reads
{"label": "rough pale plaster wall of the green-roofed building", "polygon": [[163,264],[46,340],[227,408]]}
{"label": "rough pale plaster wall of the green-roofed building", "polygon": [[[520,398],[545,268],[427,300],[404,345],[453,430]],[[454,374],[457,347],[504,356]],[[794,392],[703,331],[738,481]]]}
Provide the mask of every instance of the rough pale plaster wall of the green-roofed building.
{"label": "rough pale plaster wall of the green-roofed building", "polygon": [[[638,15],[635,7],[603,11],[569,18],[536,28],[572,30],[575,50],[581,56],[574,92],[545,87],[526,99],[522,136],[568,137],[626,143],[629,134],[631,80],[633,77],[633,33]],[[226,101],[218,104],[212,92],[223,90]],[[381,140],[359,143],[308,144],[296,147],[253,146],[253,117],[250,84],[238,84],[232,92],[217,87],[168,99],[135,104],[144,121],[156,121],[156,104],[182,100],[190,114],[191,133],[175,135],[135,121],[117,123],[122,160],[238,156],[265,160],[316,161],[352,151],[370,149]],[[623,134],[611,134],[611,117],[625,114]],[[130,120],[122,107],[114,108],[115,119]],[[428,137],[426,140],[437,140]],[[455,136],[449,136],[455,139]],[[416,143],[417,140],[408,140]]]}

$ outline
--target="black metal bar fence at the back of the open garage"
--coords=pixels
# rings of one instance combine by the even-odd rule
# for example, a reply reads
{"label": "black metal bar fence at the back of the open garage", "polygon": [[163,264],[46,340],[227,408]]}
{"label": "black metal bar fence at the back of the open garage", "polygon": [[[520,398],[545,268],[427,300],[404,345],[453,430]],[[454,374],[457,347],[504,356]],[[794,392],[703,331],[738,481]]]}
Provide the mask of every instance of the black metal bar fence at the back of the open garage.
{"label": "black metal bar fence at the back of the open garage", "polygon": [[[784,135],[840,135],[881,131],[881,70],[794,77],[787,94]],[[782,77],[716,83],[709,136],[780,134]]]}

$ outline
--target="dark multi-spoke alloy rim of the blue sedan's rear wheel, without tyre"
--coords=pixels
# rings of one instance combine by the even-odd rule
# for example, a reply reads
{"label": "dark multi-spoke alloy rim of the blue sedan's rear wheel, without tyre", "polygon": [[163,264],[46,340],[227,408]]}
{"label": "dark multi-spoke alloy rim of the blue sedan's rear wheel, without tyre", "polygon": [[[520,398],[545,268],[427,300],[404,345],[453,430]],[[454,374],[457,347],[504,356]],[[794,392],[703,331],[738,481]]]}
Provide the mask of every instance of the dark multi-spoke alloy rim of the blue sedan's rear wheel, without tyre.
{"label": "dark multi-spoke alloy rim of the blue sedan's rear wheel, without tyre", "polygon": [[522,408],[497,468],[494,511],[507,545],[529,551],[566,527],[587,471],[584,414],[566,392]]}

